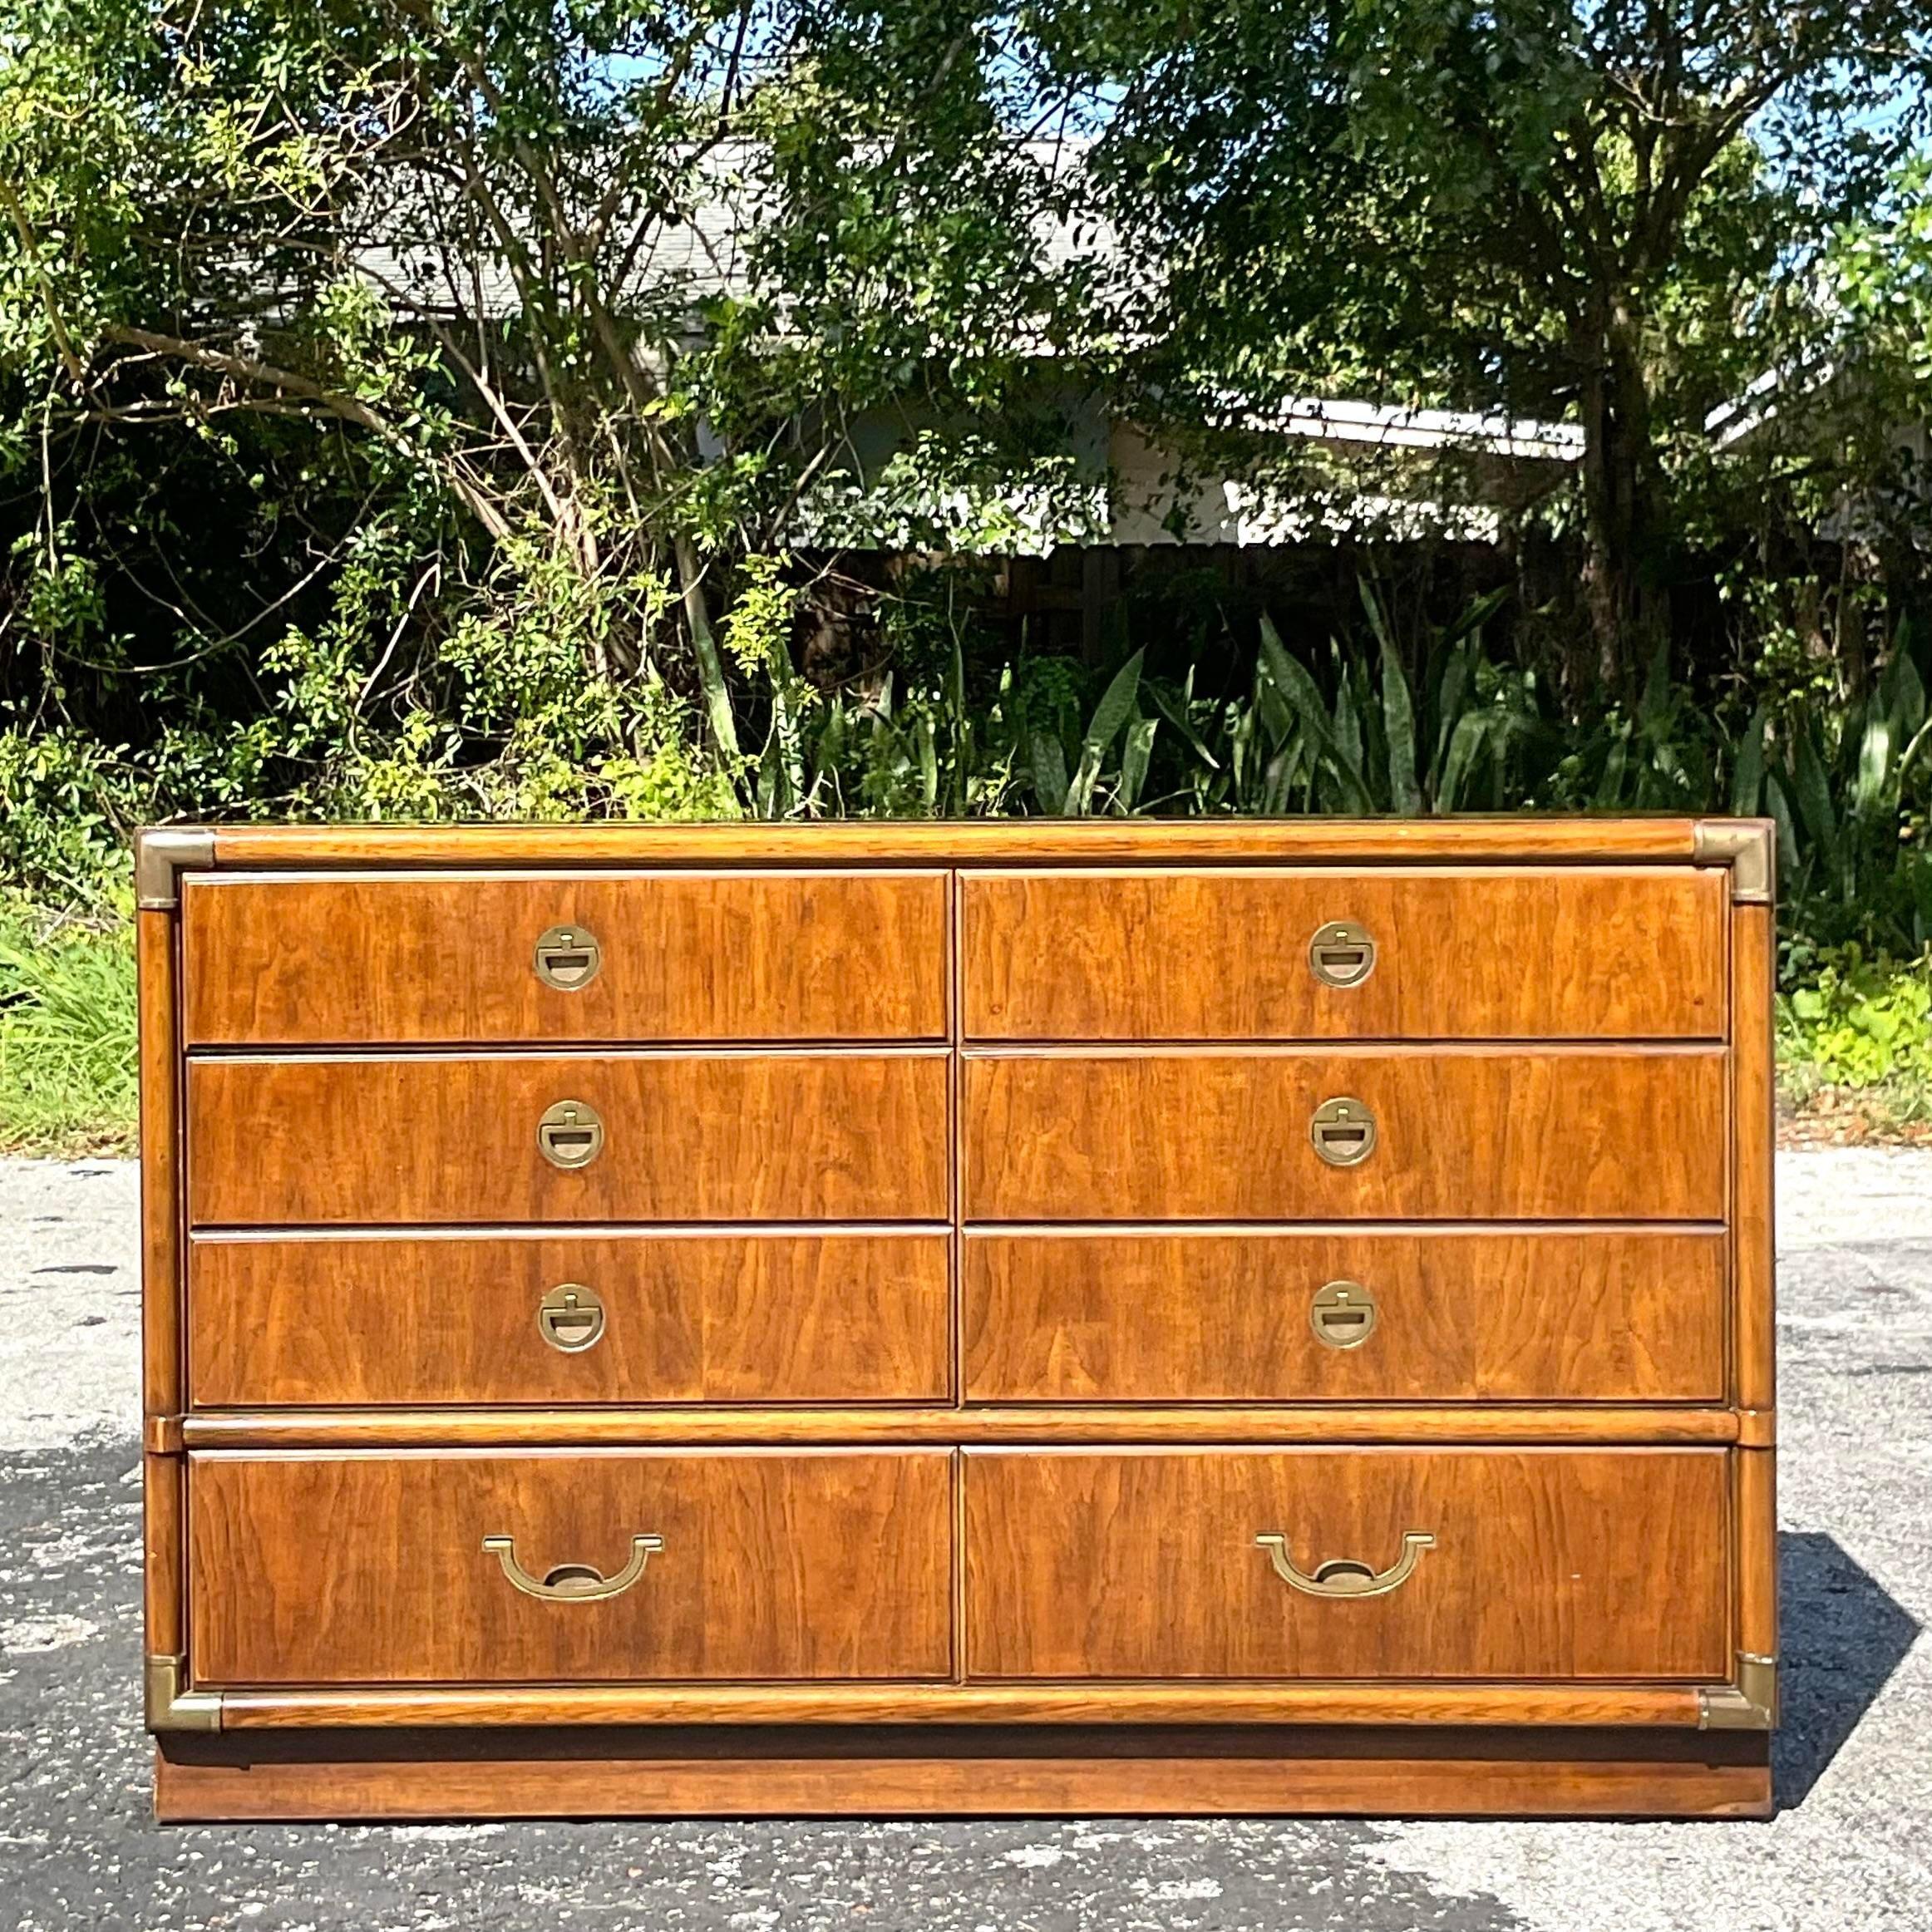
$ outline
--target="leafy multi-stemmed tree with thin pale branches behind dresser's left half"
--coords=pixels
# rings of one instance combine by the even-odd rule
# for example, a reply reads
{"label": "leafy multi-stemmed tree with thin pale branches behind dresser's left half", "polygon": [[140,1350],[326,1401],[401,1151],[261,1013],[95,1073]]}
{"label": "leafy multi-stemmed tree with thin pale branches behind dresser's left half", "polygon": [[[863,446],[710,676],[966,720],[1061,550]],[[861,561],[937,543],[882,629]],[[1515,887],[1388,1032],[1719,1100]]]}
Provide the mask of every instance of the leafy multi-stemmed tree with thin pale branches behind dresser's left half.
{"label": "leafy multi-stemmed tree with thin pale branches behind dresser's left half", "polygon": [[[15,638],[56,692],[139,661],[114,597],[149,636],[172,611],[170,713],[220,667],[265,686],[195,753],[249,763],[238,790],[267,761],[311,810],[790,810],[775,568],[904,464],[860,421],[927,483],[1039,454],[1012,373],[1049,182],[1005,166],[972,10],[8,0],[0,27]],[[261,566],[216,539],[184,591],[112,479],[189,454]]]}

